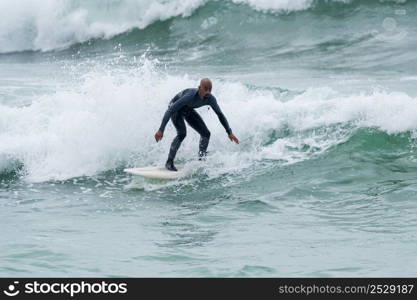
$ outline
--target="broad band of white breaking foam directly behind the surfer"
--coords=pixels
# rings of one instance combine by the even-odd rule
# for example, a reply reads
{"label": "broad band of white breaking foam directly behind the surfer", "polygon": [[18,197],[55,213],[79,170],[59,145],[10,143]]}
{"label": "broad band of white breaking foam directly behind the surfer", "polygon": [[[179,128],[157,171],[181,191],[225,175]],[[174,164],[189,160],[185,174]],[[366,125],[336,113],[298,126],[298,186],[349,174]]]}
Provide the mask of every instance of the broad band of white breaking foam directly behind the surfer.
{"label": "broad band of white breaking foam directly behind the surfer", "polygon": [[[312,88],[281,101],[271,91],[213,81],[213,93],[242,143],[229,141],[212,110],[198,110],[212,133],[209,163],[215,168],[210,176],[238,172],[265,158],[287,163],[309,159],[348,138],[352,126],[390,134],[417,129],[417,99],[402,92],[344,96]],[[160,164],[175,136],[169,123],[164,139],[154,141],[167,104],[179,90],[197,85],[198,78],[162,74],[144,60],[130,71],[92,71],[80,85],[30,106],[0,106],[0,168],[18,160],[27,180],[45,181]],[[267,143],[273,130],[283,128],[291,134]],[[178,160],[196,156],[198,139],[188,127]]]}

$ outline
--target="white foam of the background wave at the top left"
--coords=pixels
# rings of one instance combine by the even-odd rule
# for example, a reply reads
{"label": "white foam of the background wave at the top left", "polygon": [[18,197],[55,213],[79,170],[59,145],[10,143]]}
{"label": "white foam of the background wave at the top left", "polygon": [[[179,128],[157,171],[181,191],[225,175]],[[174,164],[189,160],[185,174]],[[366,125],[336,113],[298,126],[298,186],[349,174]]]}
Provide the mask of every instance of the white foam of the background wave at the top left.
{"label": "white foam of the background wave at the top left", "polygon": [[[21,2],[16,5],[16,2]],[[110,38],[155,21],[186,17],[205,0],[72,1],[5,0],[0,2],[0,53],[48,51]],[[17,3],[19,4],[19,3]]]}

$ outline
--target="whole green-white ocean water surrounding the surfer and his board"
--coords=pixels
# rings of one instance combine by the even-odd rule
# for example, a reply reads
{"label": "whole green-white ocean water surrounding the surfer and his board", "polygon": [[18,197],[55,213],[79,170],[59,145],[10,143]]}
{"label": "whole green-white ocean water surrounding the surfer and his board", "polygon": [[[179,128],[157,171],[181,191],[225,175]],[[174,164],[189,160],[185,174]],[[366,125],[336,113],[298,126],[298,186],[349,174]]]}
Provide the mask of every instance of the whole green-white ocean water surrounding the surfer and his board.
{"label": "whole green-white ocean water surrounding the surfer and his board", "polygon": [[[404,277],[417,1],[0,2],[0,276]],[[145,181],[213,81],[207,161]]]}

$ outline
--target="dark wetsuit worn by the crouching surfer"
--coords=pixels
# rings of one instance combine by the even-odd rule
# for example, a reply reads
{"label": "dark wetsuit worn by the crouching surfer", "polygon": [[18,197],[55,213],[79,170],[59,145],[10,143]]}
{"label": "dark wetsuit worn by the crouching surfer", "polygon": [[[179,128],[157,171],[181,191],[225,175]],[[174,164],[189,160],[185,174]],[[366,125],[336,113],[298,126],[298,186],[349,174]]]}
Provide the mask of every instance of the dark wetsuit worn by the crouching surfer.
{"label": "dark wetsuit worn by the crouching surfer", "polygon": [[229,123],[213,95],[210,94],[207,98],[201,99],[198,95],[198,89],[193,88],[183,90],[169,103],[168,110],[165,112],[161,126],[159,127],[159,130],[164,132],[165,126],[168,123],[169,118],[171,118],[172,123],[177,130],[177,136],[171,144],[168,161],[174,160],[178,148],[181,146],[181,143],[187,134],[184,119],[200,134],[199,153],[201,156],[205,155],[210,140],[210,131],[207,129],[207,126],[200,115],[194,110],[194,108],[203,105],[210,105],[217,114],[223,127],[226,129],[227,134],[232,133]]}

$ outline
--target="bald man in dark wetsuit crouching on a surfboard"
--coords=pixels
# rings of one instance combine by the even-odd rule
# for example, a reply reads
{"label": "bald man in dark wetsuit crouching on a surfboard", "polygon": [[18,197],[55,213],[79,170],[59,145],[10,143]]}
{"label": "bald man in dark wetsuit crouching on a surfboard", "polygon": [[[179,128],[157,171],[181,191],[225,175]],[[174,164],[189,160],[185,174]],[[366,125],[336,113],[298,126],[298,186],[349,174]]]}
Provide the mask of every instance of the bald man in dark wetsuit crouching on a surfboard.
{"label": "bald man in dark wetsuit crouching on a surfboard", "polygon": [[172,123],[177,130],[177,136],[172,141],[168,154],[168,160],[165,164],[165,167],[168,170],[177,171],[177,168],[174,166],[174,158],[177,154],[178,148],[181,146],[181,143],[187,134],[184,119],[195,131],[200,134],[198,152],[199,159],[201,160],[207,155],[210,131],[207,129],[203,119],[194,110],[194,108],[198,108],[203,105],[210,105],[214,112],[217,114],[217,117],[219,118],[220,123],[223,125],[224,129],[226,129],[229,139],[232,142],[239,144],[239,140],[232,133],[232,129],[230,129],[226,117],[223,115],[219,105],[217,104],[216,98],[211,94],[211,88],[212,84],[210,79],[203,78],[201,79],[200,85],[197,89],[185,89],[178,93],[170,101],[168,109],[162,119],[161,126],[155,133],[155,140],[159,142],[164,135],[165,126],[168,123],[169,118],[171,118]]}

